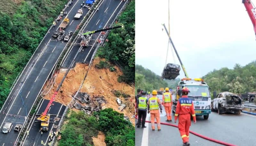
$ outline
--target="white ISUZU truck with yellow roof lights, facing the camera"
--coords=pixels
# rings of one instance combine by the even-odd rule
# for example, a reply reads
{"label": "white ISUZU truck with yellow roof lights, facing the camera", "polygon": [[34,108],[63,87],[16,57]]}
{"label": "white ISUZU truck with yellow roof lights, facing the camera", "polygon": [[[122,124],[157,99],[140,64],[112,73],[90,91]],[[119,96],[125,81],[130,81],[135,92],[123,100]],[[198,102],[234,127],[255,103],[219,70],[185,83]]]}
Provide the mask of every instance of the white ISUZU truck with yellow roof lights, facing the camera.
{"label": "white ISUZU truck with yellow roof lights, facing the camera", "polygon": [[203,79],[181,79],[177,85],[176,99],[173,100],[172,112],[175,113],[176,111],[176,105],[183,87],[187,87],[190,91],[188,98],[193,101],[196,116],[204,116],[204,119],[208,119],[211,113],[211,95],[209,87]]}

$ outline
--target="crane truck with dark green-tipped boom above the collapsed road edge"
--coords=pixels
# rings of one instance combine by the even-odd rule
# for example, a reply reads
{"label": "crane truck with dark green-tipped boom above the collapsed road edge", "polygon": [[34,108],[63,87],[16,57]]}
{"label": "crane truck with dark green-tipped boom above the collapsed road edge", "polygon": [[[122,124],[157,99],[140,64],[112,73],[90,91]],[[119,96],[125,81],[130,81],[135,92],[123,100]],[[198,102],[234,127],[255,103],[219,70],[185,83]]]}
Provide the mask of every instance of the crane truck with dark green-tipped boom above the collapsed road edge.
{"label": "crane truck with dark green-tipped boom above the collapsed road edge", "polygon": [[98,33],[98,32],[104,32],[105,33],[105,31],[107,31],[107,30],[116,29],[116,28],[120,28],[120,27],[124,28],[124,26],[122,25],[122,26],[109,27],[109,28],[100,29],[100,30],[87,31],[83,34],[79,34],[78,39],[82,39],[82,40],[81,40],[80,43],[75,43],[75,45],[80,45],[80,46],[86,47],[86,46],[88,46],[89,42],[92,39],[92,34],[95,34],[95,33]]}

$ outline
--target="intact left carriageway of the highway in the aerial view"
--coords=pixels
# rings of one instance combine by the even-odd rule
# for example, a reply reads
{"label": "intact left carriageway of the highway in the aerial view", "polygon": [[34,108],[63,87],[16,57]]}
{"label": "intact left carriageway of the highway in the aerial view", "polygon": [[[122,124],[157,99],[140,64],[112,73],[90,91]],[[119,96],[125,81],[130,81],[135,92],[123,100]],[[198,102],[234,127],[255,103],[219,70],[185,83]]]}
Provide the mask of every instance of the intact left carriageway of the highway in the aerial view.
{"label": "intact left carriageway of the highway in the aerial view", "polygon": [[[75,31],[76,26],[82,19],[75,20],[74,16],[83,1],[77,0],[72,6],[69,6],[68,12],[69,24],[65,31]],[[83,9],[84,15],[88,9]],[[83,15],[83,16],[84,16]],[[63,20],[63,19],[62,19]],[[61,21],[62,21],[61,20]],[[17,84],[13,87],[10,93],[10,98],[6,101],[0,114],[0,129],[5,122],[12,122],[13,127],[16,124],[23,124],[25,118],[31,110],[36,101],[36,97],[40,94],[45,81],[49,77],[54,65],[60,57],[67,42],[51,40],[51,35],[58,29],[60,21],[54,29],[49,31],[43,42],[40,44],[31,60],[28,62],[24,73],[21,74]],[[4,114],[3,114],[4,113]],[[15,115],[15,117],[14,117]],[[0,134],[0,146],[12,146],[18,137],[18,132],[11,132],[8,134]]]}

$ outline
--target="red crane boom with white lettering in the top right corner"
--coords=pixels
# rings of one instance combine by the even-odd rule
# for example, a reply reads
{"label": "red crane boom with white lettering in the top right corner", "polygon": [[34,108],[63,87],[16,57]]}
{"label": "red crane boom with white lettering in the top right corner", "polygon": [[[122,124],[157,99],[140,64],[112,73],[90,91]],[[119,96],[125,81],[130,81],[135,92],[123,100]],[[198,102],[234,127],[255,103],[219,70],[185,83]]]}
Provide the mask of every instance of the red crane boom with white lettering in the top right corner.
{"label": "red crane boom with white lettering in the top right corner", "polygon": [[255,12],[255,7],[252,5],[251,0],[242,0],[242,3],[245,6],[245,9],[252,21],[252,25],[253,25],[253,30],[254,33],[256,35],[256,12]]}

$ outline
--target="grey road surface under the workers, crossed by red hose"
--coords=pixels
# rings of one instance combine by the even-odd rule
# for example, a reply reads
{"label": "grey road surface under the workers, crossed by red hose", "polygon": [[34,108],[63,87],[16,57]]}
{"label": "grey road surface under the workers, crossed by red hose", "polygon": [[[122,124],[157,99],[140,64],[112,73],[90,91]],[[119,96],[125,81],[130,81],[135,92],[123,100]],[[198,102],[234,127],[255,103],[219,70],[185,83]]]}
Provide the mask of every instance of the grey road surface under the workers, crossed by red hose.
{"label": "grey road surface under the workers, crossed by red hose", "polygon": [[[150,121],[150,114],[147,115],[146,119]],[[172,114],[172,122],[165,122],[165,120],[166,116],[163,108],[161,122],[178,125],[178,120],[177,123],[174,123],[174,114]],[[256,116],[244,113],[240,115],[232,113],[218,115],[217,112],[212,112],[208,120],[204,120],[202,116],[197,116],[196,120],[196,124],[191,121],[190,130],[193,132],[237,146],[256,145],[254,136],[256,131]],[[146,123],[145,126],[147,127],[135,128],[136,146],[182,146],[182,139],[178,128],[161,125],[161,131],[152,131],[151,123]],[[193,134],[189,134],[189,142],[191,146],[221,145]]]}

